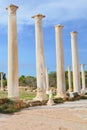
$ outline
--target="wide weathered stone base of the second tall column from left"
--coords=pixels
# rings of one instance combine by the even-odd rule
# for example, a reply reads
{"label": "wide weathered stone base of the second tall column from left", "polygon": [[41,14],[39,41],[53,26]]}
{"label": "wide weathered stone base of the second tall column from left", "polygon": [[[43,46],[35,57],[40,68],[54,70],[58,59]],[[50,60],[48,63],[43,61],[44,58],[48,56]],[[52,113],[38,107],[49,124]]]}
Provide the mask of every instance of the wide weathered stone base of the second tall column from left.
{"label": "wide weathered stone base of the second tall column from left", "polygon": [[37,95],[33,98],[35,101],[43,101],[46,100],[46,91],[41,88],[37,88]]}

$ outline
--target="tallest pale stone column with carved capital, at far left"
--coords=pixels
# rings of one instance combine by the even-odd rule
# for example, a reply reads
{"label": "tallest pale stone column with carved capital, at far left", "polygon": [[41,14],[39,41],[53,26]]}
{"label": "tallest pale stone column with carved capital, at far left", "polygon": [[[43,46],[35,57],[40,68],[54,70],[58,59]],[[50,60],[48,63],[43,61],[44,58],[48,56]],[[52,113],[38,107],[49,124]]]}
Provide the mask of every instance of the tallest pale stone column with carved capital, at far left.
{"label": "tallest pale stone column with carved capital, at far left", "polygon": [[10,5],[8,10],[8,97],[18,98],[18,42],[15,5]]}

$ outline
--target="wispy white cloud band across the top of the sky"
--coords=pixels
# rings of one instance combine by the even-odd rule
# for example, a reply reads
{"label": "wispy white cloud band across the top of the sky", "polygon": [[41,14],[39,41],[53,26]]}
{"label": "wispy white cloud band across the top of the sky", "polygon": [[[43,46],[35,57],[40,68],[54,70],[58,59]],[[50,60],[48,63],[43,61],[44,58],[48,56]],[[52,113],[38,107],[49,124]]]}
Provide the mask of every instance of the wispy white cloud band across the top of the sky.
{"label": "wispy white cloud band across the top of the sky", "polygon": [[87,0],[1,0],[0,1],[0,24],[7,24],[7,12],[5,7],[10,3],[19,6],[17,17],[19,24],[33,24],[31,16],[36,13],[46,15],[46,24],[62,23],[76,19],[87,20]]}

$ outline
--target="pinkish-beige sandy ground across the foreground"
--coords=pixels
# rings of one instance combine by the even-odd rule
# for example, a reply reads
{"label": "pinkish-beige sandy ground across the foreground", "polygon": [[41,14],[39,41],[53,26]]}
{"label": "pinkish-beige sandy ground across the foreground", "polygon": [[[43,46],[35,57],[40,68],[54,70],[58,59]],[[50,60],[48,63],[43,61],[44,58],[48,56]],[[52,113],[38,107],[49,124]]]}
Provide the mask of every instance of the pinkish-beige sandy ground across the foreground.
{"label": "pinkish-beige sandy ground across the foreground", "polygon": [[0,114],[0,130],[87,130],[87,100]]}

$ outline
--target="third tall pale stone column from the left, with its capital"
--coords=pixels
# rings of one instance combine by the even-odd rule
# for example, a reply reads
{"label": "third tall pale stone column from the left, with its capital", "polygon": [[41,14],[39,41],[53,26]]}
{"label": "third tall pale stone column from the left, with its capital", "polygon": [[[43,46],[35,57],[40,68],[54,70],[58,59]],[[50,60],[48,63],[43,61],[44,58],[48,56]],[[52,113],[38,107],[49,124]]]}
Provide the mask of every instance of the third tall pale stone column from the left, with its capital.
{"label": "third tall pale stone column from the left, with its capital", "polygon": [[63,28],[62,25],[55,26],[56,66],[57,66],[57,97],[65,97],[66,96],[62,28]]}

